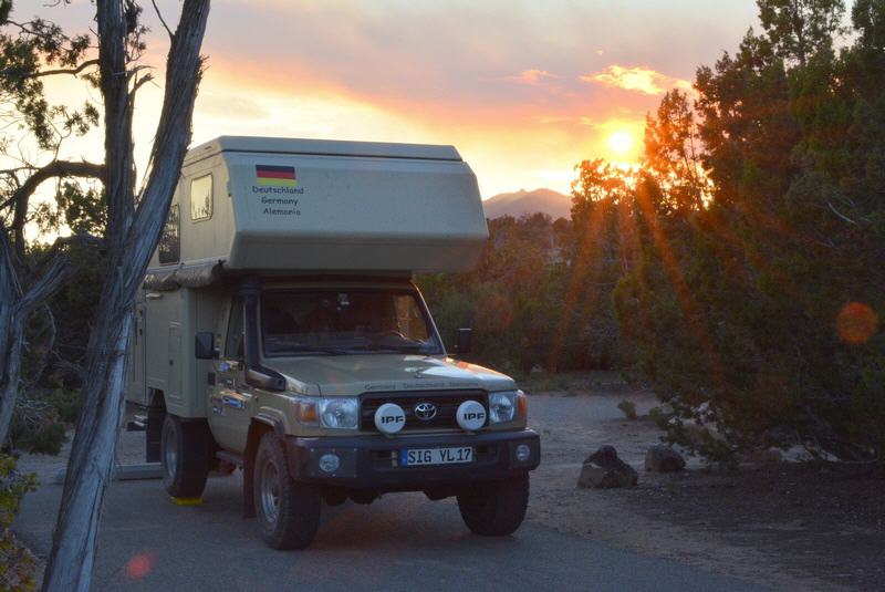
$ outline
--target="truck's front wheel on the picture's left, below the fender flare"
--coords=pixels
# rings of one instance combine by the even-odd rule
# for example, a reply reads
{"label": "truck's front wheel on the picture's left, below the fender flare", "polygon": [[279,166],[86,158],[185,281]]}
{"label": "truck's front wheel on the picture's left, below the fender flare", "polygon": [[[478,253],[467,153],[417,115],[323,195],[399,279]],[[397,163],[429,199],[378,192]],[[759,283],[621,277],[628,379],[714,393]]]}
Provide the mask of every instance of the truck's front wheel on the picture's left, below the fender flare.
{"label": "truck's front wheel on the picture's left, below the fender flare", "polygon": [[268,547],[308,547],[320,527],[320,489],[292,478],[283,443],[272,432],[261,437],[252,482],[258,527]]}

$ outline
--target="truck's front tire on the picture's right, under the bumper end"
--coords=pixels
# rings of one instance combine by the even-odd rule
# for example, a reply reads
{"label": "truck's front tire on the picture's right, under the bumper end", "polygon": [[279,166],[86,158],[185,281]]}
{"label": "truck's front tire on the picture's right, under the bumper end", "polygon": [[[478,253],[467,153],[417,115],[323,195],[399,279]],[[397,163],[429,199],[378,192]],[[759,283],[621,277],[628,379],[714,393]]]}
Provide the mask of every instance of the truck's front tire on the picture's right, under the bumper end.
{"label": "truck's front tire on the picture's right, under the bumper end", "polygon": [[476,484],[458,494],[458,509],[465,525],[482,537],[512,534],[525,518],[528,506],[528,472],[501,481]]}

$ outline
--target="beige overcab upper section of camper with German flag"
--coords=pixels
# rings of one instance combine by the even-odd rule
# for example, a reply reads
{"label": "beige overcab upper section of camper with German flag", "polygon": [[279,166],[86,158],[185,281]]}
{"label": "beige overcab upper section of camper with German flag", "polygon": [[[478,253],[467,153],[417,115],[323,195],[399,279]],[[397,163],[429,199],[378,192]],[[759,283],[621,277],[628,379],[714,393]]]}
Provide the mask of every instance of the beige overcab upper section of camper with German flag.
{"label": "beige overcab upper section of camper with German flag", "polygon": [[185,158],[148,282],[205,283],[209,269],[464,271],[487,233],[452,146],[222,136]]}

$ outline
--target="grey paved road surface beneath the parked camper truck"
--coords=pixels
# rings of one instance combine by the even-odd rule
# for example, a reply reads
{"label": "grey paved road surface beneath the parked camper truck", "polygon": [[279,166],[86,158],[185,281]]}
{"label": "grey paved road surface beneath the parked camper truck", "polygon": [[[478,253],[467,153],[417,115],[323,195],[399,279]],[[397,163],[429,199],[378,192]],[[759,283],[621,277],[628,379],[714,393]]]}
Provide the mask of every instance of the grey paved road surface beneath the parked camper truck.
{"label": "grey paved road surface beneath the parked camper truck", "polygon": [[[329,508],[306,551],[263,546],[239,516],[240,478],[212,477],[205,502],[178,507],[159,481],[115,482],[98,538],[95,590],[760,590],[673,561],[527,522],[517,534],[467,532],[451,500],[391,495]],[[61,487],[25,497],[14,526],[50,546]]]}

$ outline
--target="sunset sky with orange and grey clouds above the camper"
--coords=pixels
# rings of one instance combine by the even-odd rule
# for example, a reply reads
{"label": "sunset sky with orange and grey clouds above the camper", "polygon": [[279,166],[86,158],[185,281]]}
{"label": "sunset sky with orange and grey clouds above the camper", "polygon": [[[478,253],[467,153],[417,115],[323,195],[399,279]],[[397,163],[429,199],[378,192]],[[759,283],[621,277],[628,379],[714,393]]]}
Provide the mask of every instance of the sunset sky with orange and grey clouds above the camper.
{"label": "sunset sky with orange and grey clouds above the camper", "polygon": [[[168,41],[144,4],[147,61],[162,66]],[[94,28],[87,1],[14,6],[18,20],[39,12],[70,31]],[[174,25],[180,3],[159,6]],[[248,134],[452,144],[483,198],[566,193],[582,159],[635,159],[660,95],[690,87],[696,67],[733,50],[751,24],[751,0],[214,0],[194,142]],[[98,98],[73,80],[52,90]],[[162,98],[158,86],[145,90],[142,155]],[[101,137],[85,145],[95,150]]]}

